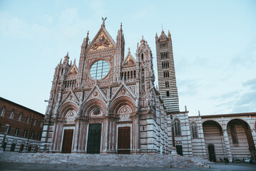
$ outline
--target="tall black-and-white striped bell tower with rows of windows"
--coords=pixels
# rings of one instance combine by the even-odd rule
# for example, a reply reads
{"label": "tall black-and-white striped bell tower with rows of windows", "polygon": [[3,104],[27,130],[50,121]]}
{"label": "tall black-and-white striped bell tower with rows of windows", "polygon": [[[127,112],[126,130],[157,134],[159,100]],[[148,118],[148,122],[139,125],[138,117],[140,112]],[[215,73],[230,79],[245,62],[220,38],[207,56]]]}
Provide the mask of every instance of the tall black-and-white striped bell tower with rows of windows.
{"label": "tall black-and-white striped bell tower with rows of windows", "polygon": [[156,56],[158,63],[158,91],[164,100],[168,112],[179,111],[178,90],[176,86],[175,68],[173,61],[173,45],[170,38],[162,30],[158,38],[155,35]]}

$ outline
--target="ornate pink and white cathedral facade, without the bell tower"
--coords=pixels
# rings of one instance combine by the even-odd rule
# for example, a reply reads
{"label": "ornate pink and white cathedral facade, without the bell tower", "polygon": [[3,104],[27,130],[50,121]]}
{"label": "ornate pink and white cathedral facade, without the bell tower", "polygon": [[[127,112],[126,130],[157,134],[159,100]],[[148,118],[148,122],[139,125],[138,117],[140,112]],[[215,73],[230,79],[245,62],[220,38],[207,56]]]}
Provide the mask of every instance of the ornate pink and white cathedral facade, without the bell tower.
{"label": "ornate pink and white cathedral facade, without the bell tower", "polygon": [[155,89],[153,56],[144,38],[125,55],[122,24],[116,41],[105,20],[81,56],[58,63],[42,145],[51,152],[170,152],[170,115]]}

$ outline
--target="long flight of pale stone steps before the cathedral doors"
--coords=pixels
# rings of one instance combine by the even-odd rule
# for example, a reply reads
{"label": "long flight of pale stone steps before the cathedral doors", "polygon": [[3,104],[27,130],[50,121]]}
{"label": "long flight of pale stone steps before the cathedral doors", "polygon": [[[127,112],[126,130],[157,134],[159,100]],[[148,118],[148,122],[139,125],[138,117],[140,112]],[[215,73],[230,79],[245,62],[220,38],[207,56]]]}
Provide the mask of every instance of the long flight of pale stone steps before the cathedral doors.
{"label": "long flight of pale stone steps before the cathedral doors", "polygon": [[61,153],[20,153],[1,152],[0,162],[54,164],[54,165],[86,165],[86,166],[118,166],[118,167],[167,167],[205,168],[210,163],[198,157],[180,155],[116,155],[116,154],[61,154]]}

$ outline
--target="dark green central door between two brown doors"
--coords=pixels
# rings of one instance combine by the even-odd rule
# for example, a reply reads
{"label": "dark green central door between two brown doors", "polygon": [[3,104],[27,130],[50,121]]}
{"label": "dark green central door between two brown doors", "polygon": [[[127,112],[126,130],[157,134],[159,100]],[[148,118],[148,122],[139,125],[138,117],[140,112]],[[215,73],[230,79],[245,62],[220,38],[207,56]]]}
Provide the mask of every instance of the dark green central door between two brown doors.
{"label": "dark green central door between two brown doors", "polygon": [[99,154],[101,152],[101,123],[90,124],[88,131],[87,153]]}

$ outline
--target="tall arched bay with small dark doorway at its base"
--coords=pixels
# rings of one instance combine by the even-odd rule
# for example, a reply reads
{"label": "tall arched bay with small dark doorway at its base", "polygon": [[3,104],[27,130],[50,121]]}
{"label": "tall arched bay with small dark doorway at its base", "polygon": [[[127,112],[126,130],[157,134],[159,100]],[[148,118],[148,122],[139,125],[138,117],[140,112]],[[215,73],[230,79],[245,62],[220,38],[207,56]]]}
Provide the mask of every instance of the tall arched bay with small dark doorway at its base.
{"label": "tall arched bay with small dark doorway at its base", "polygon": [[214,120],[207,120],[203,123],[203,135],[205,138],[205,149],[208,152],[210,161],[216,162],[226,156],[225,142],[222,127]]}

